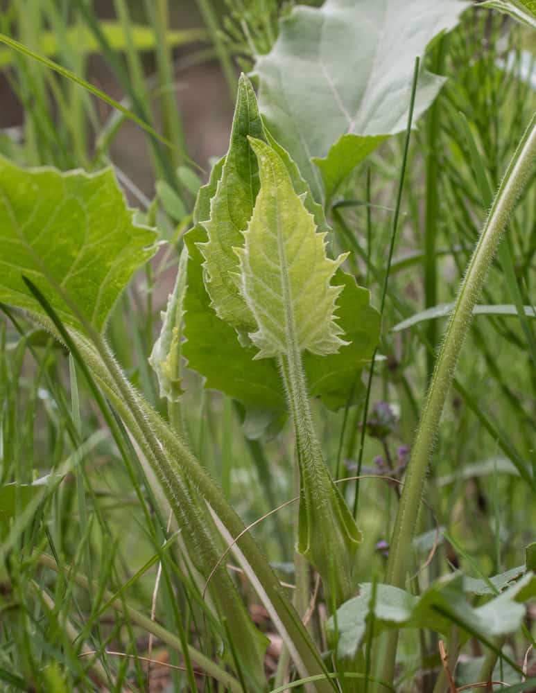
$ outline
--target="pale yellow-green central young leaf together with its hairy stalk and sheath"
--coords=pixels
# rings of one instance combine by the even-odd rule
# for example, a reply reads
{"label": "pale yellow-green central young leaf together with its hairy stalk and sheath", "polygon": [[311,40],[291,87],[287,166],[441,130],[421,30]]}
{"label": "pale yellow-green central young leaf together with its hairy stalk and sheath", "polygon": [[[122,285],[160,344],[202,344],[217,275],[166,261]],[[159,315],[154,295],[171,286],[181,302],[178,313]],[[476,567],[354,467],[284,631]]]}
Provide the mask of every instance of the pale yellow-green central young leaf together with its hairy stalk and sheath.
{"label": "pale yellow-green central young leaf together with its hairy stalk and sheath", "polygon": [[353,594],[352,567],[361,532],[331,479],[315,435],[301,353],[334,353],[347,342],[334,321],[342,286],[330,280],[345,256],[329,260],[325,234],[296,195],[284,162],[270,145],[250,138],[261,191],[245,231],[241,290],[257,321],[250,333],[256,359],[279,358],[293,414],[300,471],[298,549],[322,576],[331,602]]}

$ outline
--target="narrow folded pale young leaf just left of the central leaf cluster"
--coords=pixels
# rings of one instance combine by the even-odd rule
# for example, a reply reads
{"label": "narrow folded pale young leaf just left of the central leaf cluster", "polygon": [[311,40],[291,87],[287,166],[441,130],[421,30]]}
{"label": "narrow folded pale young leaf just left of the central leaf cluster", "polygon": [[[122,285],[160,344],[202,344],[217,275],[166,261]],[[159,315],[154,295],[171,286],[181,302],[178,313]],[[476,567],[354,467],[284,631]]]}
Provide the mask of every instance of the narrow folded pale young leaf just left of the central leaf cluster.
{"label": "narrow folded pale young leaf just left of the central leaf cluster", "polygon": [[188,249],[184,246],[179,258],[175,288],[168,297],[165,313],[162,313],[162,331],[149,357],[149,363],[157,374],[160,396],[170,402],[178,402],[184,392],[180,378],[180,353],[187,262]]}

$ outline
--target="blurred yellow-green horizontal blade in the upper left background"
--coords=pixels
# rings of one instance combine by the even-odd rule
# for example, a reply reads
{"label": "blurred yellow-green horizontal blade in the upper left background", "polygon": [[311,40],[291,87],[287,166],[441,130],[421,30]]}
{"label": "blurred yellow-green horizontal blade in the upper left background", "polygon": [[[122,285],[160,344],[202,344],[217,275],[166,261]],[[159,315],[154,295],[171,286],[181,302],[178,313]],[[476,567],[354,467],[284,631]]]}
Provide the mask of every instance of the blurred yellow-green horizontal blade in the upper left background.
{"label": "blurred yellow-green horizontal blade in the upper left background", "polygon": [[[117,21],[101,21],[101,29],[107,38],[110,46],[115,51],[126,49],[125,30]],[[138,51],[153,51],[155,49],[155,31],[151,26],[132,25],[132,38]],[[185,44],[207,39],[207,32],[204,29],[181,29],[168,30],[166,33],[166,44],[170,48],[184,46]],[[62,37],[62,42],[67,42],[76,46],[78,53],[98,53],[100,46],[86,26],[69,26],[66,35]],[[40,46],[37,47],[42,55],[54,58],[60,51],[62,43],[58,42],[58,37],[52,31],[44,31],[40,35]],[[9,49],[0,50],[0,68],[6,67],[13,62],[13,52]]]}

